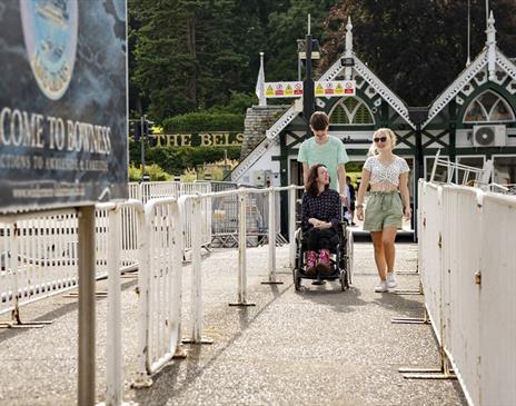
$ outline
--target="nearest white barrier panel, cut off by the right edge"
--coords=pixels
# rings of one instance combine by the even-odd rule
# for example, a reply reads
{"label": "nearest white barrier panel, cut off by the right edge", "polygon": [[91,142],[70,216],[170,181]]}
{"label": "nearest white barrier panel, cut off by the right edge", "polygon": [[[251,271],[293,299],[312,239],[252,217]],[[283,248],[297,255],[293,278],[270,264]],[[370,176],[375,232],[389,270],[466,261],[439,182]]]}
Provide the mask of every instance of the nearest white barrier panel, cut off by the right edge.
{"label": "nearest white barrier panel, cut off by the right edge", "polygon": [[480,405],[516,405],[516,197],[483,201]]}

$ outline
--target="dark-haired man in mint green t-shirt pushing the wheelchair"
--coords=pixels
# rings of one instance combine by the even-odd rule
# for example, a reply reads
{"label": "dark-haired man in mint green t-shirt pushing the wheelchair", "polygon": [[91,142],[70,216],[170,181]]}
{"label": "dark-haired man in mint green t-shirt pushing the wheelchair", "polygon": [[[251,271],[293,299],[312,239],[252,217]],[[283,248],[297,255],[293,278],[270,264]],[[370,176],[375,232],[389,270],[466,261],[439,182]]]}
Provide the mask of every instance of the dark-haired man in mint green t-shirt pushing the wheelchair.
{"label": "dark-haired man in mint green t-shirt pushing the wheelchair", "polygon": [[314,137],[305,140],[299,148],[297,160],[302,164],[302,182],[306,186],[308,172],[312,165],[322,164],[330,176],[329,187],[337,190],[346,201],[346,169],[349,161],[343,141],[328,135],[329,118],[324,111],[316,111],[310,117]]}

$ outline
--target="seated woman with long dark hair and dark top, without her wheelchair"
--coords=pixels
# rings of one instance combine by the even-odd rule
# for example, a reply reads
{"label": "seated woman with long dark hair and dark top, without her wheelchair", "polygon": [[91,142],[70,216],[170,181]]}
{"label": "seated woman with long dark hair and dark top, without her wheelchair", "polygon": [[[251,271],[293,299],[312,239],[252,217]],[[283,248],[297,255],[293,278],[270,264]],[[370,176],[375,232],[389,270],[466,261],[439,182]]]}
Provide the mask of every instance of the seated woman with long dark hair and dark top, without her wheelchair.
{"label": "seated woman with long dark hair and dark top, without her wheelchair", "polygon": [[337,190],[329,189],[328,169],[317,164],[310,168],[302,195],[302,239],[307,246],[306,275],[331,273],[330,251],[339,242],[341,202]]}

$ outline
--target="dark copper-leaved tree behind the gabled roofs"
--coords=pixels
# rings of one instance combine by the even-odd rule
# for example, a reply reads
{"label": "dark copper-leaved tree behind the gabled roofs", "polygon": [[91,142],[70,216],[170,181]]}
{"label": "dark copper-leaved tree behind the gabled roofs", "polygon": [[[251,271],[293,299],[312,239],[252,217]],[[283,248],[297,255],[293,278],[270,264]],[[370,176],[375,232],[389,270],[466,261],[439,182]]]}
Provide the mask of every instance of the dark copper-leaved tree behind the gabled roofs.
{"label": "dark copper-leaved tree behind the gabled roofs", "polygon": [[[485,1],[470,0],[472,58],[483,49]],[[492,0],[498,46],[516,55],[514,0]],[[467,0],[340,0],[324,28],[320,69],[344,52],[348,16],[354,26],[354,50],[408,105],[425,106],[464,69],[467,58]]]}

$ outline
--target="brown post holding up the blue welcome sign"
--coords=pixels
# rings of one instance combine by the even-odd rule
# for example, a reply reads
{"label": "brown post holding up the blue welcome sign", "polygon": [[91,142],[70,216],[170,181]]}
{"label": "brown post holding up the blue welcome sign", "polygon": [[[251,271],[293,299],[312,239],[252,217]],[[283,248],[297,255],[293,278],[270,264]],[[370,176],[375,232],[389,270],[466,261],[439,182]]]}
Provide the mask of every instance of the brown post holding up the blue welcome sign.
{"label": "brown post holding up the blue welcome sign", "polygon": [[79,378],[78,404],[95,405],[95,206],[79,217]]}

